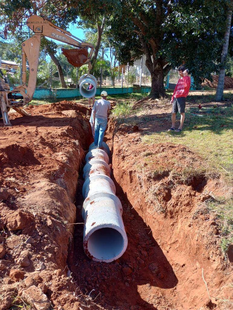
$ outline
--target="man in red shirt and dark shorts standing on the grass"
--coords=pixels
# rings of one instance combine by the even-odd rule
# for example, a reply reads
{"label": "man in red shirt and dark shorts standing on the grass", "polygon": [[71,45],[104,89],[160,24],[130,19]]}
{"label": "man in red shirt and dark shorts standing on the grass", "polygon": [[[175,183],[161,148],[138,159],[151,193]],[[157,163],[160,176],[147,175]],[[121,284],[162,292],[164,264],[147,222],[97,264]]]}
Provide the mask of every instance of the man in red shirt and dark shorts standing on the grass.
{"label": "man in red shirt and dark shorts standing on the grass", "polygon": [[[180,132],[182,131],[184,117],[185,117],[185,98],[188,96],[190,85],[191,85],[191,78],[188,76],[188,72],[185,70],[185,66],[180,66],[178,68],[178,72],[180,75],[180,78],[178,80],[178,83],[175,86],[175,90],[173,92],[173,95],[171,97],[170,104],[172,104],[172,114],[171,114],[171,122],[172,126],[168,131],[176,131]],[[179,111],[181,117],[180,117],[180,125],[175,130],[175,118],[176,113]]]}

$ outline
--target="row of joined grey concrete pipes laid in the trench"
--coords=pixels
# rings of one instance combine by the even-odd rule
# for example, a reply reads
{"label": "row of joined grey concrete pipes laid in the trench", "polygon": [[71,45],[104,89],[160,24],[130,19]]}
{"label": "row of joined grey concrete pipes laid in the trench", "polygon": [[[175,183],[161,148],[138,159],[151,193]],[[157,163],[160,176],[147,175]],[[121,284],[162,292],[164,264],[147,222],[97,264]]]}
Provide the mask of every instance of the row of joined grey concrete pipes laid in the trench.
{"label": "row of joined grey concrete pipes laid in the trench", "polygon": [[83,246],[86,255],[98,262],[110,263],[123,255],[128,240],[122,219],[122,205],[116,196],[109,166],[110,149],[92,143],[83,169],[84,219]]}

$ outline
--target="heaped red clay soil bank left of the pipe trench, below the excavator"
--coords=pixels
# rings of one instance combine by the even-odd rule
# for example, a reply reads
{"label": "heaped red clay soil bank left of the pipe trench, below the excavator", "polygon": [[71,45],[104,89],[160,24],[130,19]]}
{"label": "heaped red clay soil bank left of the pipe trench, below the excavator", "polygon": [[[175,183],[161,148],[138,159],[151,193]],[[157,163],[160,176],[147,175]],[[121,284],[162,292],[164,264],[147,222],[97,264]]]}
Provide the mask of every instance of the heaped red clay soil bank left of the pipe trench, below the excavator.
{"label": "heaped red clay soil bank left of the pipe trench, below the excavator", "polygon": [[66,101],[27,111],[32,116],[10,113],[13,127],[0,127],[0,309],[33,296],[78,309],[66,260],[90,111]]}

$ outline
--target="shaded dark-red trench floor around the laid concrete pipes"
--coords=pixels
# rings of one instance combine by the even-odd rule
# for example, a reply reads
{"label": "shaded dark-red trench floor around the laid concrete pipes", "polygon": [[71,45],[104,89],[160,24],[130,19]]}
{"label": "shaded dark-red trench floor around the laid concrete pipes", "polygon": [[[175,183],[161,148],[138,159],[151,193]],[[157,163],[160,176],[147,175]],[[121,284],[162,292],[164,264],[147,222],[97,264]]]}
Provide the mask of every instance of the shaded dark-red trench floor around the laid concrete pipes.
{"label": "shaded dark-red trench floor around the laid concrete pipes", "polygon": [[[153,238],[152,230],[128,201],[127,193],[123,192],[115,179],[114,183],[123,206],[127,250],[112,263],[94,262],[88,259],[83,250],[83,225],[76,225],[68,255],[74,281],[84,294],[90,295],[95,303],[105,309],[164,309],[168,306],[169,309],[177,309],[173,298],[166,297],[164,292],[170,290],[172,293],[174,290],[178,282],[175,273]],[[76,195],[77,223],[83,222],[83,184],[84,180],[80,178]],[[156,295],[152,288],[156,290]]]}

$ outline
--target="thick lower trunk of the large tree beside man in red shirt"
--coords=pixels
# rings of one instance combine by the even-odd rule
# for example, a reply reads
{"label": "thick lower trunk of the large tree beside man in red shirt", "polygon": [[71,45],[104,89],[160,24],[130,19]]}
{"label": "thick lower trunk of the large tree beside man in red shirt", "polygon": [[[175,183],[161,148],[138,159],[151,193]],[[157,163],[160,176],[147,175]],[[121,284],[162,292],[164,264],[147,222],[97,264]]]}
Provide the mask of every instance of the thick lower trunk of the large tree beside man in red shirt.
{"label": "thick lower trunk of the large tree beside man in red shirt", "polygon": [[152,99],[165,97],[165,89],[163,85],[163,69],[153,70],[151,72],[151,91]]}

